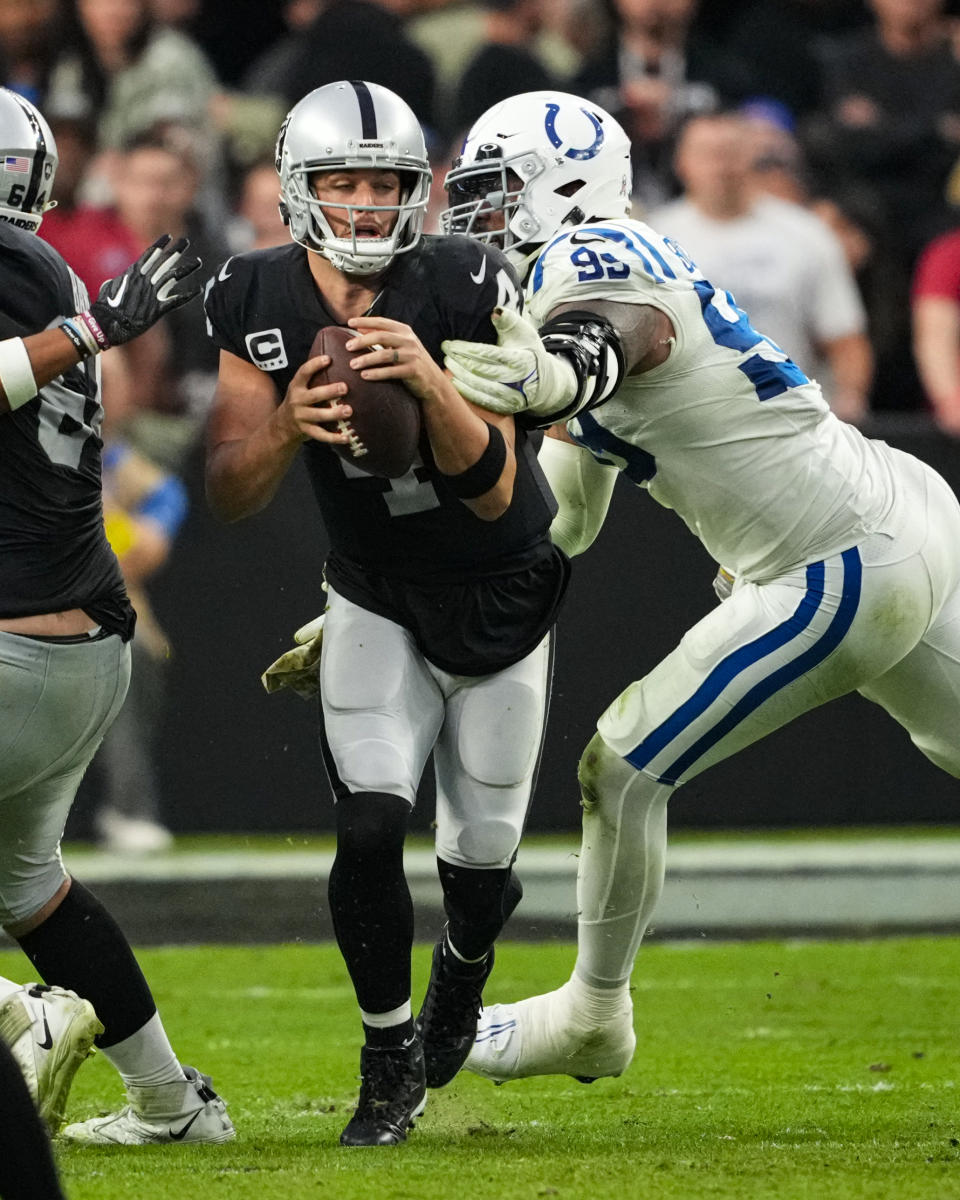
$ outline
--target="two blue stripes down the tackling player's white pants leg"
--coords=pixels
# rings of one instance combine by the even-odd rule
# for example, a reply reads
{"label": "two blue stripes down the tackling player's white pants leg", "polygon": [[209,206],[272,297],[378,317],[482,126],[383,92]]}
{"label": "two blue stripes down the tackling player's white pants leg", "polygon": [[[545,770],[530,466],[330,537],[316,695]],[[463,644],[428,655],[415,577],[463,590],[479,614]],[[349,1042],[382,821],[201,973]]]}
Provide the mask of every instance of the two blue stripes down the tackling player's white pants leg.
{"label": "two blue stripes down the tackling player's white pants leg", "polygon": [[[806,671],[822,662],[840,643],[850,629],[860,601],[862,566],[859,551],[853,547],[841,556],[844,563],[844,589],[840,604],[826,632],[803,654],[784,664],[751,688],[707,733],[682,754],[676,762],[660,775],[661,784],[676,784],[677,779],[701,758],[708,750],[736,728],[745,718],[781,688],[799,679]],[[694,695],[674,713],[654,730],[625,758],[637,769],[646,767],[650,760],[678,737],[696,718],[702,716],[709,706],[720,696],[724,689],[738,674],[774,650],[793,641],[814,619],[823,600],[823,563],[811,563],[806,568],[806,594],[797,611],[776,629],[748,646],[740,647],[720,662],[700,685]]]}

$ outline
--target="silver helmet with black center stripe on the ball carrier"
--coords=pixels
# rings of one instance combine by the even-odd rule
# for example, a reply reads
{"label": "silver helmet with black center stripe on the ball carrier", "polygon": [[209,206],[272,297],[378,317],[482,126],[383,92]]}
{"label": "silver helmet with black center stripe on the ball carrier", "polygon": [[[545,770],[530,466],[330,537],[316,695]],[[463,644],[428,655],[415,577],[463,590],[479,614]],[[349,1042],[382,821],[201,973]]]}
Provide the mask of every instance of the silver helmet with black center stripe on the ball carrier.
{"label": "silver helmet with black center stripe on the ball carrier", "polygon": [[[276,162],[280,211],[290,236],[338,270],[374,275],[420,240],[431,185],[424,131],[413,110],[386,88],[344,80],[308,92],[281,126]],[[397,172],[400,204],[337,204],[347,210],[350,236],[335,238],[310,176],[336,168]],[[390,236],[358,238],[356,214],[385,208],[397,214]]]}

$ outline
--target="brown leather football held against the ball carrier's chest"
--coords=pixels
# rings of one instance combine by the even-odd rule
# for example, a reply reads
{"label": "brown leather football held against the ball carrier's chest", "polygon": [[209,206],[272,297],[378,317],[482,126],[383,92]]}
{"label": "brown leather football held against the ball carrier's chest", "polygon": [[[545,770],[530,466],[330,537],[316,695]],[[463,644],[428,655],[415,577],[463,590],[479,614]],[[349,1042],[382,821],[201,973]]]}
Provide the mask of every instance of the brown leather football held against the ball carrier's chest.
{"label": "brown leather football held against the ball carrier's chest", "polygon": [[310,358],[329,354],[330,366],[318,371],[311,386],[346,383],[346,402],[353,409],[347,421],[337,425],[350,440],[332,449],[347,462],[368,475],[398,479],[406,475],[416,457],[420,440],[420,406],[398,379],[364,379],[354,371],[350,360],[355,350],[346,348],[356,337],[356,330],[342,325],[326,325],[313,338]]}

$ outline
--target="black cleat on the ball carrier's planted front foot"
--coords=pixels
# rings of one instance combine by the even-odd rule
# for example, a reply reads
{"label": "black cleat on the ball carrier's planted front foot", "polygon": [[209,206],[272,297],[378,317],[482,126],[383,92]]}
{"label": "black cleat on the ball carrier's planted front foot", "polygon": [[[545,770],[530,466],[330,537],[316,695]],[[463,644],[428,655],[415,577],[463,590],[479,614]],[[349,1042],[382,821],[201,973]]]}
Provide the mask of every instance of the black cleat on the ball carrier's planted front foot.
{"label": "black cleat on the ball carrier's planted front foot", "polygon": [[360,1051],[360,1098],[341,1146],[396,1146],[426,1108],[424,1045],[414,1036],[407,1045]]}

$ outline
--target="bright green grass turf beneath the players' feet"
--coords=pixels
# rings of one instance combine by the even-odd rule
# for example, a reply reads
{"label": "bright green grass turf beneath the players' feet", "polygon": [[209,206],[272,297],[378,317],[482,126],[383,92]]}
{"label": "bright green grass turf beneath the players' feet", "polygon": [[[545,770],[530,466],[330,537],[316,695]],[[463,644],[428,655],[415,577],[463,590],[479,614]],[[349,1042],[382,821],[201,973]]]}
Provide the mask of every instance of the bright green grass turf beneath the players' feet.
{"label": "bright green grass turf beneath the players' feet", "polygon": [[[415,986],[428,947],[418,947]],[[407,1145],[342,1150],[358,1034],[335,947],[144,950],[181,1060],[214,1076],[227,1146],[58,1144],[71,1200],[947,1200],[960,1198],[960,940],[650,943],[638,1049],[616,1080],[458,1076]],[[568,944],[506,943],[487,998],[560,983]],[[25,979],[17,953],[0,972]],[[115,1108],[102,1056],[68,1117]]]}

